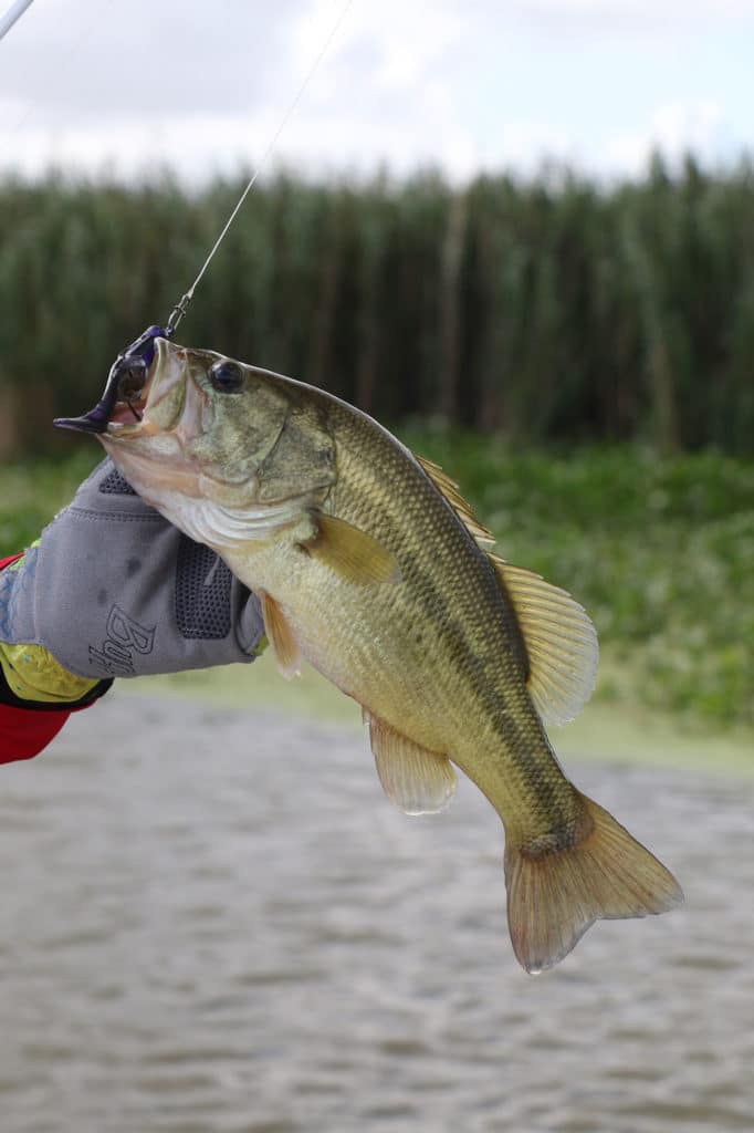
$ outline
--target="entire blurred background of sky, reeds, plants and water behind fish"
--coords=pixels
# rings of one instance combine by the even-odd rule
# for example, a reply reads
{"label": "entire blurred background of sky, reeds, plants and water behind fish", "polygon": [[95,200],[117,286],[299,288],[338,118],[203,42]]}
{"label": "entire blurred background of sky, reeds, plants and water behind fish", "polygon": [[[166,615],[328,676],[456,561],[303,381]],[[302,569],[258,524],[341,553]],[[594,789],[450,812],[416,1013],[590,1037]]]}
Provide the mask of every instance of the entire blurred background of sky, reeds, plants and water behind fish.
{"label": "entire blurred background of sky, reeds, plants and water behind fish", "polygon": [[312,674],[134,682],[3,769],[3,1133],[753,1128],[754,2],[37,0],[0,43],[0,555],[343,11],[178,338],[377,416],[586,606],[554,743],[688,903],[528,980],[471,787],[393,815]]}

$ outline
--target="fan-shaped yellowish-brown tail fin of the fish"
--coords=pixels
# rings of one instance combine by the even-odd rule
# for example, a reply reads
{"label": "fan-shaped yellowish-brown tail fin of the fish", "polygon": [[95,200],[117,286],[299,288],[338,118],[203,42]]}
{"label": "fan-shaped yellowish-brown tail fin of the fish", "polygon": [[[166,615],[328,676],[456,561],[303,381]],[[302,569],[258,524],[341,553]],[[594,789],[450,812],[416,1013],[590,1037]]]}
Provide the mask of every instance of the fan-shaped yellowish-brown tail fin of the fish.
{"label": "fan-shaped yellowish-brown tail fin of the fish", "polygon": [[599,919],[646,917],[680,904],[672,874],[615,818],[581,795],[589,833],[564,850],[506,846],[508,928],[528,972],[552,968]]}

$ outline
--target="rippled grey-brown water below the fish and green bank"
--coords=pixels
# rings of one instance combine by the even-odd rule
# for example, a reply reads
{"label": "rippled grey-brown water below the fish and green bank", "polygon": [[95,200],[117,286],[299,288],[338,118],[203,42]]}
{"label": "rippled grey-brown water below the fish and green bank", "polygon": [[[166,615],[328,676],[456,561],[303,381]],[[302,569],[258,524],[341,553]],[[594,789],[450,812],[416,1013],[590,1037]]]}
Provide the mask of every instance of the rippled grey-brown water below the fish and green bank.
{"label": "rippled grey-brown water below the fish and green bank", "polygon": [[754,780],[571,770],[688,901],[532,979],[470,784],[409,819],[352,731],[82,714],[0,776],[0,1130],[754,1130]]}

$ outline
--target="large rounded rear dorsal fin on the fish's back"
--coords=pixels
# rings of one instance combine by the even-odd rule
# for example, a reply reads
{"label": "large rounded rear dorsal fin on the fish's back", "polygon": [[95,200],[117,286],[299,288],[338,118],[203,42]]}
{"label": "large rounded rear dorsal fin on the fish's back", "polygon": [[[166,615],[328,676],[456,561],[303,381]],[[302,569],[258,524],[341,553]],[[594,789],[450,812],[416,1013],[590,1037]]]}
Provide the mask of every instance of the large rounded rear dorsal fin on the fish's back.
{"label": "large rounded rear dorsal fin on the fish's back", "polygon": [[546,723],[565,724],[594,688],[599,646],[583,606],[539,574],[489,555],[516,613],[529,659],[529,693]]}

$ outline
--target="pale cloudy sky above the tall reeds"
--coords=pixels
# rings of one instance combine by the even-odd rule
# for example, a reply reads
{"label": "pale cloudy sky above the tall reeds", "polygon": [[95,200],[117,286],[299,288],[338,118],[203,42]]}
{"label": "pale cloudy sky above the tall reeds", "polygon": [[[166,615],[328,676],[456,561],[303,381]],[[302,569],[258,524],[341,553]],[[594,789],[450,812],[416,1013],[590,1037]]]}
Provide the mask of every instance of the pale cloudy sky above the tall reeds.
{"label": "pale cloudy sky above the tall reeds", "polygon": [[[254,165],[344,7],[36,0],[0,42],[0,170]],[[754,0],[352,0],[276,160],[620,176],[653,146],[754,152]]]}

